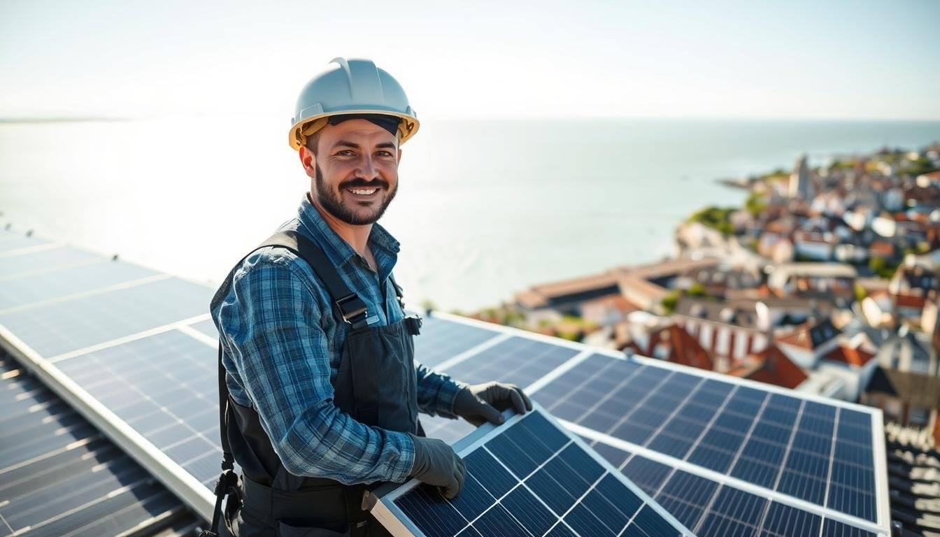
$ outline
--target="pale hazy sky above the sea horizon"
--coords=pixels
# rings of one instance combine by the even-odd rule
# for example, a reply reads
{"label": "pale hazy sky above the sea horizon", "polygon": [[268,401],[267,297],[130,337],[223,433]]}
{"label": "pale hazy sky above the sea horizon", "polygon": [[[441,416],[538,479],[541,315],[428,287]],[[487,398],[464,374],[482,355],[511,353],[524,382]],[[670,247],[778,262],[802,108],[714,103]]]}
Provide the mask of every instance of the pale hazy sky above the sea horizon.
{"label": "pale hazy sky above the sea horizon", "polygon": [[0,0],[0,117],[251,114],[370,57],[418,118],[940,118],[940,2]]}

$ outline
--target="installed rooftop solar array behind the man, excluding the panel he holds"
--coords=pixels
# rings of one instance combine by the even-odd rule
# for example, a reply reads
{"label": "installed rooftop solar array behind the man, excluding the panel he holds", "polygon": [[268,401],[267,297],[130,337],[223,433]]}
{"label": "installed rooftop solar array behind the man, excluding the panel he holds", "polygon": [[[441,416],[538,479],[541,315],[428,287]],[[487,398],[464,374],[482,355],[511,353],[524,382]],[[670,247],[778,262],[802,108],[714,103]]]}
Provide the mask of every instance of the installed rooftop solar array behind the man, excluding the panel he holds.
{"label": "installed rooftop solar array behind the man, excluding the panel he holds", "polygon": [[[0,289],[4,346],[208,517],[214,290],[6,231]],[[526,387],[698,535],[888,533],[878,410],[443,313],[415,353],[464,382]],[[474,431],[421,421],[452,442]]]}

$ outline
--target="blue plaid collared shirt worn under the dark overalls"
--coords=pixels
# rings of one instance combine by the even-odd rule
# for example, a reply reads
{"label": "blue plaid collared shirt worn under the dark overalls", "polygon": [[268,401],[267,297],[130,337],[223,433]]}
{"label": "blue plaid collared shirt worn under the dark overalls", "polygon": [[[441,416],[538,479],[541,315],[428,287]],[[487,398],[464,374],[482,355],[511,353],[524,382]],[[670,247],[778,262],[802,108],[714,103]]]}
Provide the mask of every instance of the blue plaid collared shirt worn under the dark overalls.
{"label": "blue plaid collared shirt worn under the dark overalls", "polygon": [[[294,229],[321,245],[339,276],[368,307],[368,324],[404,317],[388,276],[399,243],[372,225],[368,245],[378,273],[331,229],[307,197]],[[227,385],[236,403],[258,412],[274,451],[290,473],[344,483],[403,482],[415,462],[415,445],[404,433],[364,425],[333,403],[345,325],[310,266],[285,248],[268,246],[248,256],[212,320],[221,336]],[[417,403],[422,412],[454,418],[462,388],[450,377],[415,362]]]}

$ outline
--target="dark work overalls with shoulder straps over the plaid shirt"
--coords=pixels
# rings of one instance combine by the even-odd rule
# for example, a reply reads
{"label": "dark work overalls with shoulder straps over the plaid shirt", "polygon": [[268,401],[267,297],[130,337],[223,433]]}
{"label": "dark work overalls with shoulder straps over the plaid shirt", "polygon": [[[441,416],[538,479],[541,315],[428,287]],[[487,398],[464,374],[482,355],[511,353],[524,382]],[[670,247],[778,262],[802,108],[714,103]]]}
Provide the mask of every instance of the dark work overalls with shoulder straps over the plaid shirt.
{"label": "dark work overalls with shoulder straps over the plaid shirt", "polygon": [[[411,434],[419,432],[415,393],[414,343],[420,317],[406,316],[398,323],[368,326],[366,304],[343,282],[319,245],[297,231],[272,235],[255,250],[281,246],[305,260],[330,294],[334,312],[346,328],[334,403],[341,412],[367,425]],[[247,258],[252,252],[245,256]],[[244,258],[242,259],[244,261]],[[214,310],[232,283],[239,261],[212,298]],[[401,290],[395,284],[401,304]],[[219,343],[219,406],[223,474],[216,485],[212,529],[237,537],[276,535],[321,537],[386,534],[362,510],[365,484],[344,485],[326,478],[290,474],[274,452],[261,428],[258,413],[235,403],[228,395],[226,370]],[[232,458],[242,466],[241,485],[232,471]],[[376,483],[379,484],[379,483]],[[228,494],[226,512],[220,516],[222,498]],[[211,534],[211,533],[206,533]]]}

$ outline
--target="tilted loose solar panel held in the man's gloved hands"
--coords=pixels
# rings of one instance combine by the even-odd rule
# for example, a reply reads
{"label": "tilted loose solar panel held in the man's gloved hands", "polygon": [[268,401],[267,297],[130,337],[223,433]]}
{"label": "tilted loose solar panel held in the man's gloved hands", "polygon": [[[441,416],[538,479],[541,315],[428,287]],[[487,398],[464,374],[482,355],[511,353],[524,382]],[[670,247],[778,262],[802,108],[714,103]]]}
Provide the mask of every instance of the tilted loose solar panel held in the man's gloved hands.
{"label": "tilted loose solar panel held in the man's gloved hands", "polygon": [[456,450],[457,498],[412,481],[380,492],[372,513],[396,535],[692,535],[538,405]]}

